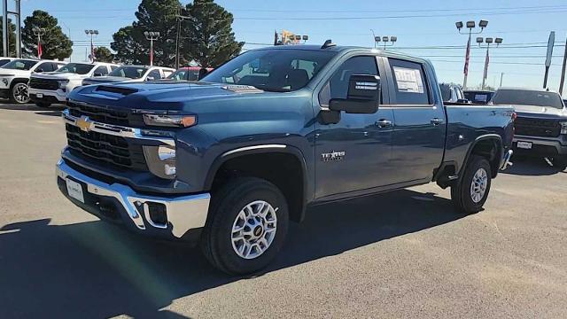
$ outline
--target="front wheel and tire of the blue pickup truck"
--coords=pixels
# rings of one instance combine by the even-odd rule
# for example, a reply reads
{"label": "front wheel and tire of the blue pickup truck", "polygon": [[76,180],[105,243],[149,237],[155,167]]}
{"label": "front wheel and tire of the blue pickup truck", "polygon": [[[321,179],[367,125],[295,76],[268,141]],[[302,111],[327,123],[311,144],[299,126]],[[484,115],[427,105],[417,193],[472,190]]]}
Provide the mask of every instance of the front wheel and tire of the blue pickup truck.
{"label": "front wheel and tire of the blue pickup truck", "polygon": [[[271,207],[265,204],[261,206],[261,202]],[[264,219],[246,219],[243,218],[246,214],[256,219],[259,217],[251,214],[250,210],[245,210],[246,207],[252,208],[255,213],[258,213],[260,207],[265,207],[264,211],[268,213]],[[268,222],[259,222],[256,226],[252,224],[252,229],[250,223],[245,221]],[[258,228],[260,225],[261,230]],[[230,275],[251,274],[267,267],[276,258],[285,241],[288,226],[287,202],[274,184],[255,177],[235,178],[220,191],[214,192],[200,245],[206,259],[215,268]],[[242,227],[241,231],[234,231],[239,227]],[[241,239],[233,239],[233,236]],[[248,249],[249,246],[252,248]],[[263,247],[267,248],[260,253],[260,248]]]}

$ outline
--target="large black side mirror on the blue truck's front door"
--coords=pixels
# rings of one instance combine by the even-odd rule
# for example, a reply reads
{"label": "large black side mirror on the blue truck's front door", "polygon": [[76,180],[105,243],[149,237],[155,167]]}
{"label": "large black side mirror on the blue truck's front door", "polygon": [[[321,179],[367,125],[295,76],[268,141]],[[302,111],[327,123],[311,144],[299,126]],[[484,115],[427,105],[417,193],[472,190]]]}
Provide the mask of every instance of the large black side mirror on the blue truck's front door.
{"label": "large black side mirror on the blue truck's front door", "polygon": [[380,77],[369,74],[351,75],[346,98],[333,98],[330,111],[355,114],[377,113],[380,104]]}

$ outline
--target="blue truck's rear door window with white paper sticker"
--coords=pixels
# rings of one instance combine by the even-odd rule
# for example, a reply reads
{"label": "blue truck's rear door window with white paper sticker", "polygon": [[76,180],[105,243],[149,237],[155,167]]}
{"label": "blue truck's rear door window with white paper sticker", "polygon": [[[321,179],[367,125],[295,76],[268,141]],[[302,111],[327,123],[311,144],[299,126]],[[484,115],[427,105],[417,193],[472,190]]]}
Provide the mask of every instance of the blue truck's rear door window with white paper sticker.
{"label": "blue truck's rear door window with white paper sticker", "polygon": [[429,105],[430,97],[423,66],[419,63],[388,59],[392,67],[396,104]]}

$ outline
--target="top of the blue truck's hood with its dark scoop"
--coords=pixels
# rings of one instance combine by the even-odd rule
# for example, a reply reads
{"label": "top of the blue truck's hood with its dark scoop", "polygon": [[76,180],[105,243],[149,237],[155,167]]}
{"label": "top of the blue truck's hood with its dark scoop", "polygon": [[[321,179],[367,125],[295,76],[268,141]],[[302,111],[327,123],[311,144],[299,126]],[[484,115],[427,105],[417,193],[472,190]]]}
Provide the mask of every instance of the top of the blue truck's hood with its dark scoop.
{"label": "top of the blue truck's hood with its dark scoop", "polygon": [[264,92],[244,85],[210,82],[130,82],[74,89],[69,100],[117,108],[190,112],[194,105],[212,100],[229,103],[231,98],[278,94],[281,93]]}

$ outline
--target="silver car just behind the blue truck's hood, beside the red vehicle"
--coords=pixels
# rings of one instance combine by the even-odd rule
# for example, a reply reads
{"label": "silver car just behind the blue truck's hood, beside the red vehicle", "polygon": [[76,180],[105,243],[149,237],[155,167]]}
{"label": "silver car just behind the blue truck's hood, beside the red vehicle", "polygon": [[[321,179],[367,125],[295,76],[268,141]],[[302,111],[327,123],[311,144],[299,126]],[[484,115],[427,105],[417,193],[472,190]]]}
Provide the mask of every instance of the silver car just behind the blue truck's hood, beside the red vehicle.
{"label": "silver car just behind the blue truck's hood, beside the red vehicle", "polygon": [[82,80],[82,85],[154,81],[164,79],[174,72],[173,68],[161,66],[119,66],[107,76],[95,76]]}

